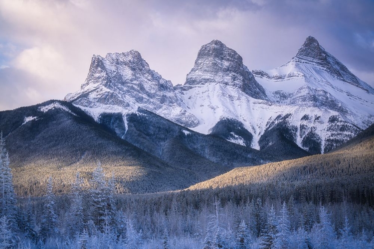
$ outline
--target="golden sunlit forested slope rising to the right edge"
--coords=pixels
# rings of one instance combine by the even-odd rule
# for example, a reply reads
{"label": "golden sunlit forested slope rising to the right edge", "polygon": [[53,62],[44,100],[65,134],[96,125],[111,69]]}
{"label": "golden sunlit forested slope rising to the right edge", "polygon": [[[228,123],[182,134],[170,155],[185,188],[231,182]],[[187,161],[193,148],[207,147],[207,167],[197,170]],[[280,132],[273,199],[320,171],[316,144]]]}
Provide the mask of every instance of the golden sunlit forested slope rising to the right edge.
{"label": "golden sunlit forested slope rising to the right edge", "polygon": [[[374,206],[374,125],[330,153],[241,167],[188,190],[248,192],[262,198],[318,203],[348,200]],[[224,192],[224,191],[222,191]]]}

